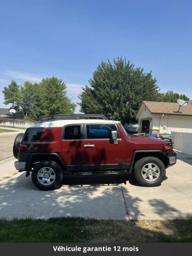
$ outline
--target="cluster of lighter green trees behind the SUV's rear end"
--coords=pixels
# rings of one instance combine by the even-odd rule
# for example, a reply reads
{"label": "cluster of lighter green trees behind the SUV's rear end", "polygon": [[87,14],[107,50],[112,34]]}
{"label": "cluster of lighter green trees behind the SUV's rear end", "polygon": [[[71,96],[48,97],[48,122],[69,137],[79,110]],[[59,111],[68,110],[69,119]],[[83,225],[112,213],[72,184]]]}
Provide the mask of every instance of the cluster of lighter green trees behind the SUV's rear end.
{"label": "cluster of lighter green trees behind the SUV's rear end", "polygon": [[66,83],[57,77],[44,78],[41,83],[15,81],[4,87],[4,104],[11,104],[15,117],[38,119],[41,115],[73,114],[76,105],[66,95]]}

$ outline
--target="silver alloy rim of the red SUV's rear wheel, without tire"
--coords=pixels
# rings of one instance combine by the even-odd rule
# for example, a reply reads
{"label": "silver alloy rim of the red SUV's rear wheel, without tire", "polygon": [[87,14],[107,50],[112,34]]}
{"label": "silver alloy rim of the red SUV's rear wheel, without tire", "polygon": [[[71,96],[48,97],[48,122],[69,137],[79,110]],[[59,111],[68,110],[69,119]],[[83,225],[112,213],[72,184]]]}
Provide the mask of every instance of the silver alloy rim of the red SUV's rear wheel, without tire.
{"label": "silver alloy rim of the red SUV's rear wheel, without tire", "polygon": [[42,185],[51,185],[55,180],[55,172],[50,167],[43,167],[37,173],[37,179]]}

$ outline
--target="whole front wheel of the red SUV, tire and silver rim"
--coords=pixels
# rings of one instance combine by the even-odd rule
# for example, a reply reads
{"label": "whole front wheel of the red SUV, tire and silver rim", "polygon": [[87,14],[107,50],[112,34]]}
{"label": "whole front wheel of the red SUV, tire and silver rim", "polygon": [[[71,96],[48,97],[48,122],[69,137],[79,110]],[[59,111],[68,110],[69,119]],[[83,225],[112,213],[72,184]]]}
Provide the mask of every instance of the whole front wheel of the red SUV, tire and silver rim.
{"label": "whole front wheel of the red SUV, tire and silver rim", "polygon": [[143,157],[134,165],[134,177],[145,187],[161,185],[165,173],[165,165],[157,157]]}

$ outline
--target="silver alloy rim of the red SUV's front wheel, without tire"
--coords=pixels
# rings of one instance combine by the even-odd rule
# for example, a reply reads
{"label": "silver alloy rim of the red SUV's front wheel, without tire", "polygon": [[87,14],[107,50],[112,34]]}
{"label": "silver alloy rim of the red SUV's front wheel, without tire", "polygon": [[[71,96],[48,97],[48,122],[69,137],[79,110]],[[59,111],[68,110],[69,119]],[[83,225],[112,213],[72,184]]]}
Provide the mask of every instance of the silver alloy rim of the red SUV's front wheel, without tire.
{"label": "silver alloy rim of the red SUV's front wheel, without tire", "polygon": [[143,179],[152,182],[158,179],[160,170],[156,164],[148,163],[142,167],[141,174]]}

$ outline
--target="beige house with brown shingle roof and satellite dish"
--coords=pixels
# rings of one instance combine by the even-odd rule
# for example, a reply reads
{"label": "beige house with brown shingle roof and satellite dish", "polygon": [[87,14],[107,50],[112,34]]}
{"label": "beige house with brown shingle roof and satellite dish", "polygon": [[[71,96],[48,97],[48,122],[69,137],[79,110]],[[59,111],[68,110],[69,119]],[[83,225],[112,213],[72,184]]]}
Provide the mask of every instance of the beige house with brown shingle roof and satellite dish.
{"label": "beige house with brown shingle roof and satellite dish", "polygon": [[192,132],[192,105],[179,109],[177,102],[142,101],[137,119],[139,133]]}

